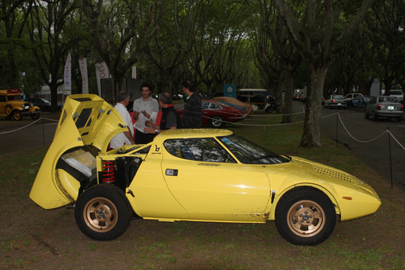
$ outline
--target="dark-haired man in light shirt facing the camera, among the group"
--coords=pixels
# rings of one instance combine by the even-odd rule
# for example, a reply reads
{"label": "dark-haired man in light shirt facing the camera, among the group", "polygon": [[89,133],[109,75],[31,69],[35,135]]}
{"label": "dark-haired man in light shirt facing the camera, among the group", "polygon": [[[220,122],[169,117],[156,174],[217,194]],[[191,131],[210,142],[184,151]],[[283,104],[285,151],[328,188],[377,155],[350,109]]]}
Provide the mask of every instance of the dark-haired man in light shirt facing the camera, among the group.
{"label": "dark-haired man in light shirt facing the camera, among the group", "polygon": [[146,122],[152,120],[156,122],[157,113],[159,112],[159,104],[157,100],[151,98],[152,87],[148,83],[141,85],[142,98],[138,98],[134,101],[134,113],[133,117],[137,122],[135,128],[137,133],[135,134],[135,144],[148,144],[153,141],[154,135],[145,133]]}

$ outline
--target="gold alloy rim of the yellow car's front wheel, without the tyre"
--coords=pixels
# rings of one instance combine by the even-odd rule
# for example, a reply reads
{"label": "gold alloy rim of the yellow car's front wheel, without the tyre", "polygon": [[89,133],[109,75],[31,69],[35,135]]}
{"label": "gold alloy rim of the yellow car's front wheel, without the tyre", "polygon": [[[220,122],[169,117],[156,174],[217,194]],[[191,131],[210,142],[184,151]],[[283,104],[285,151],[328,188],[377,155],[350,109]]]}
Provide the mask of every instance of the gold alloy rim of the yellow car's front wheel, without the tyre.
{"label": "gold alloy rim of the yellow car's front wheel, without the tyre", "polygon": [[325,212],[314,201],[298,201],[288,210],[287,224],[291,232],[297,236],[316,236],[325,226]]}

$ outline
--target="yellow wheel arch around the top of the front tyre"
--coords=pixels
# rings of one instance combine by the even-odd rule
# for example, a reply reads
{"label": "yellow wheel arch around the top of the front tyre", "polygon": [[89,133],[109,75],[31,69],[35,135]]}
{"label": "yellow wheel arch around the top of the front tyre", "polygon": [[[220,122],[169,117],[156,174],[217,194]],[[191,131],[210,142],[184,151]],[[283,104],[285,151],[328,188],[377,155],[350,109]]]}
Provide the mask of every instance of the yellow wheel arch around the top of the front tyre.
{"label": "yellow wheel arch around the top of the front tyre", "polygon": [[[321,185],[316,185],[314,183],[299,183],[297,185],[291,185],[288,188],[285,188],[283,191],[281,191],[278,195],[275,195],[274,200],[271,200],[271,207],[270,207],[270,214],[268,216],[268,220],[274,220],[275,219],[275,212],[277,210],[277,204],[279,203],[280,199],[287,194],[288,192],[294,191],[294,190],[299,190],[303,188],[311,188],[313,190],[319,190],[320,192],[323,192],[329,200],[334,204],[336,214],[340,216],[340,207],[338,205],[338,202],[336,201],[336,198],[332,192],[329,192],[326,188],[324,188]],[[277,192],[277,191],[276,191]]]}

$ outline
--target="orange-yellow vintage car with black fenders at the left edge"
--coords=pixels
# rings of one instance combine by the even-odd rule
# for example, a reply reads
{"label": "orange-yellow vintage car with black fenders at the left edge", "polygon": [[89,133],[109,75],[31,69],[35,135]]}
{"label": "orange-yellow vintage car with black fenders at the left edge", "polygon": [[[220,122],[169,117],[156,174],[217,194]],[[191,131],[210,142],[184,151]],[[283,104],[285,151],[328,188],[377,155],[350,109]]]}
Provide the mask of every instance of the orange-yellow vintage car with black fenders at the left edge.
{"label": "orange-yellow vintage car with black fenders at the left edge", "polygon": [[23,115],[39,118],[40,109],[30,102],[23,101],[21,89],[0,90],[0,116],[6,119],[22,120]]}

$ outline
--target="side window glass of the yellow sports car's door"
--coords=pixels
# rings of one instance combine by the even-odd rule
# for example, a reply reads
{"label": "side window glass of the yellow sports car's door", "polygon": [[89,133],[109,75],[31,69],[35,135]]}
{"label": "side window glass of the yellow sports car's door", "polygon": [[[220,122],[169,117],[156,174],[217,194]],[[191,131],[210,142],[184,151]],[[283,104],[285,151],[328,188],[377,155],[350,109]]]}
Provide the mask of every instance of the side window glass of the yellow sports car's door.
{"label": "side window glass of the yellow sports car's door", "polygon": [[175,157],[195,161],[236,163],[235,159],[213,138],[168,139],[165,149]]}

